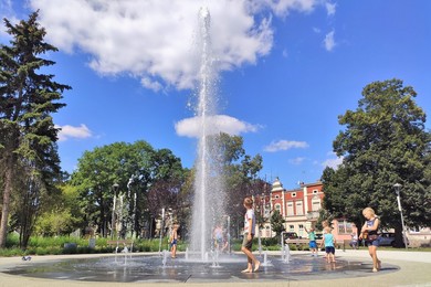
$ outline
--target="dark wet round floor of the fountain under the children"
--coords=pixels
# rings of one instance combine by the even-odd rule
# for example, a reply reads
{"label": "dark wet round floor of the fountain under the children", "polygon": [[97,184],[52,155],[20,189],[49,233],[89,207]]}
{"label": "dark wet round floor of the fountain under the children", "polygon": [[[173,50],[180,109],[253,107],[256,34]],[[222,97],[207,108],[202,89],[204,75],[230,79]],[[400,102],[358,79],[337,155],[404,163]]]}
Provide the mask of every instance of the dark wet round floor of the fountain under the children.
{"label": "dark wet round floor of the fountain under the children", "polygon": [[[246,267],[244,255],[224,255],[219,262],[186,259],[185,256],[116,255],[94,258],[59,259],[45,263],[25,262],[2,270],[6,274],[38,278],[80,281],[116,283],[221,283],[221,281],[286,281],[364,277],[371,273],[370,262],[338,259],[326,263],[308,254],[257,256],[262,262],[257,273],[241,273]],[[398,270],[386,265],[380,273]]]}

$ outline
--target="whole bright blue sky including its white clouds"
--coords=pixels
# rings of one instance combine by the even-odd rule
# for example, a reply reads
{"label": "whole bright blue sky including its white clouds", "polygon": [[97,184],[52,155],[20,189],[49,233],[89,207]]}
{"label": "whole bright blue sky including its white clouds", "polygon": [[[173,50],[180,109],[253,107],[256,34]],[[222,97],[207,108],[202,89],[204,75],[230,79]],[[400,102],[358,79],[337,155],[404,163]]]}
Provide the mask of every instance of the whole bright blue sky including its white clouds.
{"label": "whole bright blue sky including its white clouds", "polygon": [[0,0],[1,18],[12,21],[40,9],[46,41],[60,49],[48,57],[55,79],[73,87],[54,115],[64,170],[86,150],[136,140],[192,166],[197,140],[186,119],[195,116],[201,7],[220,68],[218,113],[248,155],[262,155],[261,178],[290,189],[335,167],[337,117],[375,81],[402,79],[430,115],[428,0]]}

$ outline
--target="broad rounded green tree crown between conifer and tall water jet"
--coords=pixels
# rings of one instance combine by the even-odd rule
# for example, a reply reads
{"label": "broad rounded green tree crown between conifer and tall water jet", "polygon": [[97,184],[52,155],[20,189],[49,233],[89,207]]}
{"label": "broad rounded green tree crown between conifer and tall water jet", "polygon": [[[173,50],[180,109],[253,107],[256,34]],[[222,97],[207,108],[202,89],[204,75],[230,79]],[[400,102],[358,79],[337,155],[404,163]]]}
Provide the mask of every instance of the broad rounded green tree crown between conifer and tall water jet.
{"label": "broad rounded green tree crown between conifer and tall water jet", "polygon": [[[82,228],[98,226],[97,232],[103,236],[106,237],[109,230],[113,235],[114,196],[122,194],[130,203],[128,224],[139,234],[149,226],[151,211],[157,213],[165,201],[175,202],[182,185],[182,172],[180,159],[170,150],[155,150],[143,140],[133,145],[115,142],[84,152],[72,174],[72,184],[80,191],[85,214]],[[114,183],[118,189],[114,189]],[[165,191],[169,193],[168,199],[164,198]],[[148,196],[149,192],[153,198]]]}

